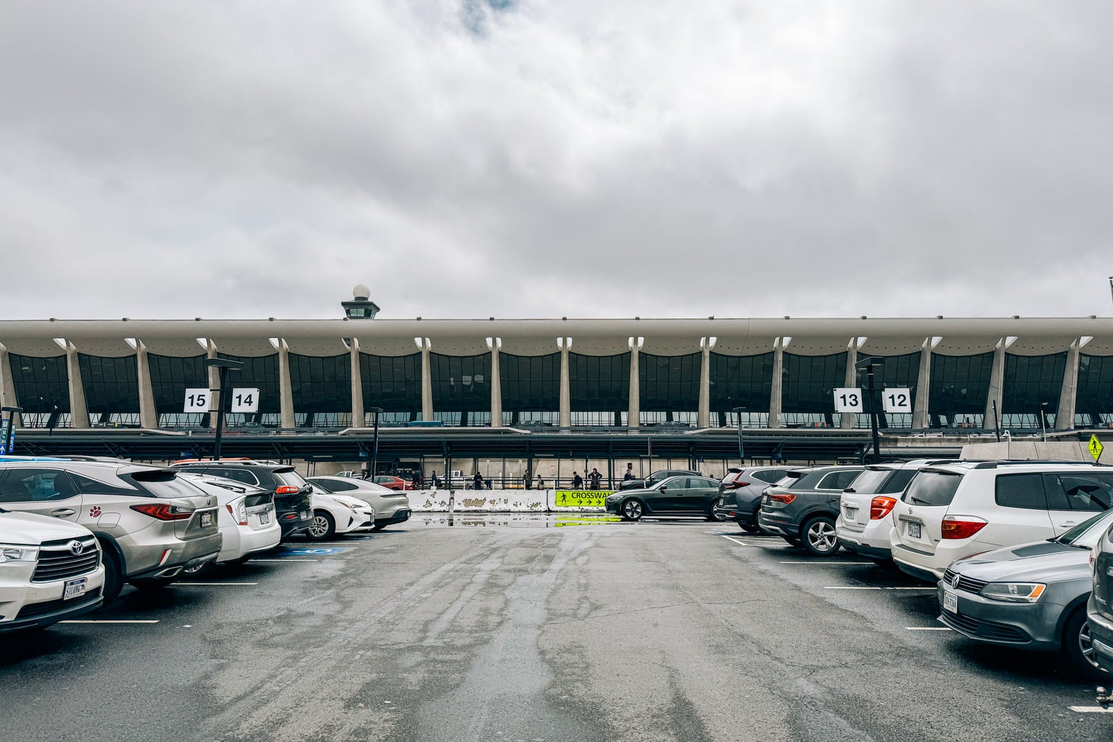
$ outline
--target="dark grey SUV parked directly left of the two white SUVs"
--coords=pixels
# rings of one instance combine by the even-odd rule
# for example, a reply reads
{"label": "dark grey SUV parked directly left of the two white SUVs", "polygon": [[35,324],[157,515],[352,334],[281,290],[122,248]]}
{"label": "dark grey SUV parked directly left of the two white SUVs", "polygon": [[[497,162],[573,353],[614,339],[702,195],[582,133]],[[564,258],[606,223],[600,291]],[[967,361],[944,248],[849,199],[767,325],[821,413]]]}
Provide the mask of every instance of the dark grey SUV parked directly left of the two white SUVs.
{"label": "dark grey SUV parked directly left of the two white SUVs", "polygon": [[786,472],[786,482],[761,495],[758,526],[792,546],[802,544],[816,556],[835,554],[839,550],[835,521],[843,491],[863,471],[861,466],[817,466]]}

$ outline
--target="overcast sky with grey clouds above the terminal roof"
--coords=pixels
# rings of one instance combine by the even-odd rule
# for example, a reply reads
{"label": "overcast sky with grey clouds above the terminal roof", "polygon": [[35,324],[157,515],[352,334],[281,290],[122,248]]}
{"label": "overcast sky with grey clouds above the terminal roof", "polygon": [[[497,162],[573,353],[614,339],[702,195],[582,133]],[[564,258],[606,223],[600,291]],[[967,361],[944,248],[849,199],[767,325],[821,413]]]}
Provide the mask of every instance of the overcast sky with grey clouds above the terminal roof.
{"label": "overcast sky with grey clouds above the terminal roof", "polygon": [[3,0],[0,318],[1109,316],[1111,28]]}

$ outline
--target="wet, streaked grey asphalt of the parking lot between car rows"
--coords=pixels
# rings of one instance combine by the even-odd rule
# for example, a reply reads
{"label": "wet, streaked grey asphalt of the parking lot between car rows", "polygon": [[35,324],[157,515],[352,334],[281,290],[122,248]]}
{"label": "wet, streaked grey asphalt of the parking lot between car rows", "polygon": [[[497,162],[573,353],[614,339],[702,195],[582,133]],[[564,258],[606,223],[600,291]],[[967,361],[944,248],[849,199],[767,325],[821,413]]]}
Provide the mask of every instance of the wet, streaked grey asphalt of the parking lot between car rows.
{"label": "wet, streaked grey asphalt of the parking lot between car rows", "polygon": [[1113,739],[935,601],[732,524],[420,515],[0,635],[0,740]]}

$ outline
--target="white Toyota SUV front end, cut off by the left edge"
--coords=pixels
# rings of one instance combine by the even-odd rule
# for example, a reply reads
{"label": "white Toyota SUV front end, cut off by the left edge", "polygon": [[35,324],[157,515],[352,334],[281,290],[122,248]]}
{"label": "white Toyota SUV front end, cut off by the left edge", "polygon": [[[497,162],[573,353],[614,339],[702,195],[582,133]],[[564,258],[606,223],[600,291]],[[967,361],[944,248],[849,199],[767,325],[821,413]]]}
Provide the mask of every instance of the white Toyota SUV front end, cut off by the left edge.
{"label": "white Toyota SUV front end, cut off by the left edge", "polygon": [[104,603],[105,566],[88,528],[0,511],[0,633],[46,629]]}

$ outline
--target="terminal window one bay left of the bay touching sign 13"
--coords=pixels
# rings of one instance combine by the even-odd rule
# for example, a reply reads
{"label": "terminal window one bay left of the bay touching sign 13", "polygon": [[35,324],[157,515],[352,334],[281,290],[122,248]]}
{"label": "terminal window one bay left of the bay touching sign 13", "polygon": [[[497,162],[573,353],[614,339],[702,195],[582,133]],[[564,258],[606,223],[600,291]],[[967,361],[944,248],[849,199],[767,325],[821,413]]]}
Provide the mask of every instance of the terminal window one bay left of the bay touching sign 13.
{"label": "terminal window one bay left of the bay touching sign 13", "polygon": [[757,356],[712,353],[708,370],[712,425],[737,426],[738,415],[731,410],[745,407],[742,427],[765,427],[772,394],[772,353]]}

